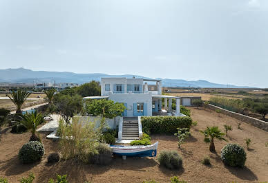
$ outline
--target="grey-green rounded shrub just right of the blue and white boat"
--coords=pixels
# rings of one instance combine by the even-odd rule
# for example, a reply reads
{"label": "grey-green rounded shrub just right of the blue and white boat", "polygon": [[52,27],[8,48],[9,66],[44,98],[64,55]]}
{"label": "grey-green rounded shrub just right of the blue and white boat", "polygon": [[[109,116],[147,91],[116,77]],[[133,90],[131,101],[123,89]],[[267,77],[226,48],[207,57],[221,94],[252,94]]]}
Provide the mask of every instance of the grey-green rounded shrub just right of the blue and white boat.
{"label": "grey-green rounded shrub just right of the blue and white boat", "polygon": [[157,160],[161,166],[165,166],[167,169],[182,168],[182,158],[176,151],[162,151]]}

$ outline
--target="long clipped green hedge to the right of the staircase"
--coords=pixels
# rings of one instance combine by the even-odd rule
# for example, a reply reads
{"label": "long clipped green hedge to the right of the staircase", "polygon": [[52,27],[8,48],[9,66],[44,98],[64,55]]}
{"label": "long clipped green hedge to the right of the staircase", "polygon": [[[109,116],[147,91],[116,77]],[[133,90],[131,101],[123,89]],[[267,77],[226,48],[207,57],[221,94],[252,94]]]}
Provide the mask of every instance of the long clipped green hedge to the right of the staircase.
{"label": "long clipped green hedge to the right of the staircase", "polygon": [[143,116],[142,129],[144,133],[178,132],[178,128],[190,128],[192,119],[188,116]]}

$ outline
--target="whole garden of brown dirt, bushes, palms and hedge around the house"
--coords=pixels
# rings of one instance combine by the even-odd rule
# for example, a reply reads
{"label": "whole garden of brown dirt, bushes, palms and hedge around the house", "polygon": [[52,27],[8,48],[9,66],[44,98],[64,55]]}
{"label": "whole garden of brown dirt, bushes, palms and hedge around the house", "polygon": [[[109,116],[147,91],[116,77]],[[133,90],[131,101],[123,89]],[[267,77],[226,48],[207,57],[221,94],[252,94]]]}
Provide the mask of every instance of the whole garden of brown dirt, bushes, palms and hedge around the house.
{"label": "whole garden of brown dirt, bushes, palms and hedge around the house", "polygon": [[[47,94],[48,96],[50,94]],[[1,127],[0,182],[241,182],[267,181],[267,132],[202,107],[187,107],[188,117],[142,117],[144,134],[130,145],[159,142],[156,158],[113,156],[117,131],[105,125],[82,125],[73,116],[82,110],[77,94],[51,95],[48,110],[60,114],[57,135],[38,133],[44,113],[17,114],[12,126]],[[108,100],[106,100],[108,101]],[[72,109],[68,109],[71,105]],[[99,102],[86,113],[110,118],[124,108]],[[103,110],[99,110],[103,109]],[[113,110],[114,111],[114,110]],[[81,111],[85,112],[85,111]],[[1,115],[2,123],[8,111]],[[114,114],[117,115],[117,114]],[[73,118],[72,122],[70,120]],[[240,124],[240,125],[238,125]],[[13,127],[13,133],[10,131]],[[16,128],[14,128],[16,127]],[[17,129],[24,128],[23,131]],[[213,175],[211,175],[213,172]]]}

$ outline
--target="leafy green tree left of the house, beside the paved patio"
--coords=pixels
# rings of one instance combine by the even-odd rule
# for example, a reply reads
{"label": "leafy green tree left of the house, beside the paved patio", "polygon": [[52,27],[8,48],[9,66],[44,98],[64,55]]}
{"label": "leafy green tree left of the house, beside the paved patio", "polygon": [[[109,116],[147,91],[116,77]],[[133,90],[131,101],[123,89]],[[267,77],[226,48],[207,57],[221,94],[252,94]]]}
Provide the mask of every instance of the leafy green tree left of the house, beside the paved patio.
{"label": "leafy green tree left of the house, beside the paved patio", "polygon": [[79,114],[82,110],[82,97],[77,94],[74,96],[55,94],[53,103],[56,107],[56,112],[61,115],[67,123],[70,122],[70,118],[75,114]]}

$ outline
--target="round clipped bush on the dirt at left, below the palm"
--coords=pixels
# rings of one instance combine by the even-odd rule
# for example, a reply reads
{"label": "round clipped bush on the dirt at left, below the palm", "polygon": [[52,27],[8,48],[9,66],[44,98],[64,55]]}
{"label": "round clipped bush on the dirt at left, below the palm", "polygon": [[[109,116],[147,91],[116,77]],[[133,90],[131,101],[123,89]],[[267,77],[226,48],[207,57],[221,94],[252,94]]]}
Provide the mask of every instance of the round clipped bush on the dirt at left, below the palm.
{"label": "round clipped bush on the dirt at left, below the palm", "polygon": [[43,144],[37,141],[30,141],[19,150],[19,160],[23,163],[31,163],[40,160],[44,155]]}

